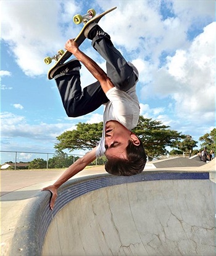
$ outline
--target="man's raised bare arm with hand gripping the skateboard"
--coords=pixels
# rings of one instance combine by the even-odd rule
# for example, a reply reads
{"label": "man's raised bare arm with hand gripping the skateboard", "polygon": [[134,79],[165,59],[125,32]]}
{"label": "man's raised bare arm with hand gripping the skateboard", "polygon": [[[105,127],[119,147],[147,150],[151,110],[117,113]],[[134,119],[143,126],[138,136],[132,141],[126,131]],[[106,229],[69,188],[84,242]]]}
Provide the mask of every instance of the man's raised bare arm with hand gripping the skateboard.
{"label": "man's raised bare arm with hand gripping the skateboard", "polygon": [[89,72],[100,82],[102,90],[106,93],[114,84],[110,81],[107,74],[98,66],[98,64],[93,61],[89,56],[85,55],[79,48],[76,42],[72,39],[68,40],[65,44],[65,49],[73,53],[77,60],[81,61]]}

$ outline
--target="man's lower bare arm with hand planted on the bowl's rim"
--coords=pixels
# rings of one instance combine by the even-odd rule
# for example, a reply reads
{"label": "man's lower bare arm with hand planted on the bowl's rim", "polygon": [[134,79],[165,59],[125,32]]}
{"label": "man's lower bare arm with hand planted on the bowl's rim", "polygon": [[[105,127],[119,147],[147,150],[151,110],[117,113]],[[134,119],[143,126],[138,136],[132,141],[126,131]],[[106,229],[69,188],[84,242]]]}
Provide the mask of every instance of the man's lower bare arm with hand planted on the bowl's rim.
{"label": "man's lower bare arm with hand planted on the bowl's rim", "polygon": [[96,159],[96,148],[94,148],[92,151],[85,154],[85,156],[78,159],[76,162],[74,162],[65,172],[59,177],[59,179],[56,180],[56,182],[46,188],[43,188],[43,190],[49,190],[52,193],[51,201],[50,201],[50,208],[53,210],[54,203],[57,198],[57,189],[65,183],[67,180],[72,178],[75,174],[78,174],[81,170],[83,170],[88,164],[93,162]]}

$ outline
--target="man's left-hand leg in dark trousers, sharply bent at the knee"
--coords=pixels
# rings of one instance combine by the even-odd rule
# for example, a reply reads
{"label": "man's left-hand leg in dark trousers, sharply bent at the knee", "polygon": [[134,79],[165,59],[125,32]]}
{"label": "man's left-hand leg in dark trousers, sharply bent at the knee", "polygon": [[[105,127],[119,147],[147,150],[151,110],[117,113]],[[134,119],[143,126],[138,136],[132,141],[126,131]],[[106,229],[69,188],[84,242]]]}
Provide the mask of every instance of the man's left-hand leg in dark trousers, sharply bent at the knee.
{"label": "man's left-hand leg in dark trousers, sharply bent at the knee", "polygon": [[99,82],[81,89],[80,68],[80,62],[73,60],[65,63],[54,74],[62,103],[69,117],[86,115],[108,102]]}

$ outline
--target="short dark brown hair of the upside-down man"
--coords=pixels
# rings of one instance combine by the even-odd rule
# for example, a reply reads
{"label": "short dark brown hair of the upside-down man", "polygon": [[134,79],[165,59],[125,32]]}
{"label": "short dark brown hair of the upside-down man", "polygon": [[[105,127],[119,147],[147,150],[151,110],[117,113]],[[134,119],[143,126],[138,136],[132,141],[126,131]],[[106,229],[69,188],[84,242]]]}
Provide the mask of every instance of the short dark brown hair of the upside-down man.
{"label": "short dark brown hair of the upside-down man", "polygon": [[143,172],[146,152],[140,139],[139,142],[139,146],[135,146],[132,141],[128,141],[127,159],[110,158],[105,164],[106,171],[117,176],[131,176]]}

